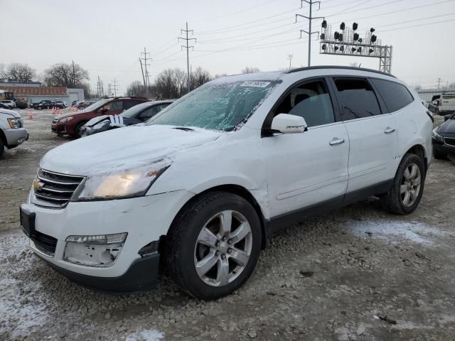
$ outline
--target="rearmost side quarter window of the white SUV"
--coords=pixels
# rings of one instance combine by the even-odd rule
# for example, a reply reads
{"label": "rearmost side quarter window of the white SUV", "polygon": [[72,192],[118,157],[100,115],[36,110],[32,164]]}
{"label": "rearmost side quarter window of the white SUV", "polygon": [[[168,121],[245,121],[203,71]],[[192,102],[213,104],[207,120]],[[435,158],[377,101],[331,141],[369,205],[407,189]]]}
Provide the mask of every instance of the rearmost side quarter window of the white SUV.
{"label": "rearmost side quarter window of the white SUV", "polygon": [[384,100],[389,112],[396,112],[414,101],[414,97],[405,85],[390,80],[379,80],[378,78],[371,81]]}

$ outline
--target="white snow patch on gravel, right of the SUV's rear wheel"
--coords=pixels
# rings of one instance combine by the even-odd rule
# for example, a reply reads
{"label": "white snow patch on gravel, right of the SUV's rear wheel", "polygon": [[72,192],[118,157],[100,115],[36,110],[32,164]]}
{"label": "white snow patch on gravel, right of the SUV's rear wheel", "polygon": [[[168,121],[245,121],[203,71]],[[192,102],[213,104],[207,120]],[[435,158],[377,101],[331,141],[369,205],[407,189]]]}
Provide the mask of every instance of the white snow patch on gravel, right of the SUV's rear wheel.
{"label": "white snow patch on gravel, right of the SUV's rear wheel", "polygon": [[366,221],[354,222],[350,226],[350,232],[361,237],[385,239],[397,243],[399,239],[407,239],[416,244],[433,244],[434,237],[444,237],[446,232],[430,227],[420,222],[397,222],[397,221]]}

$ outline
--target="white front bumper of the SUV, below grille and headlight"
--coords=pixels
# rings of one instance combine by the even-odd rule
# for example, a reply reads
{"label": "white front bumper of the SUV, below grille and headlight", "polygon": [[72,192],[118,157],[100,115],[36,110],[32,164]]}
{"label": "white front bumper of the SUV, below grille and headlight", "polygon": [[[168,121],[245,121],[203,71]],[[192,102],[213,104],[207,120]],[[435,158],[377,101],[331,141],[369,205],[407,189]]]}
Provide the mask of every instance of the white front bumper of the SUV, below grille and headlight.
{"label": "white front bumper of the SUV, below grille and headlight", "polygon": [[[131,273],[136,274],[139,271],[137,269],[144,269],[144,265],[139,266],[138,264],[145,262],[144,257],[141,257],[138,251],[167,234],[173,217],[191,196],[191,193],[177,190],[122,200],[69,202],[63,209],[33,205],[29,197],[28,202],[23,204],[23,208],[35,213],[36,231],[44,234],[45,239],[51,237],[54,240],[55,250],[46,253],[32,239],[30,239],[29,246],[35,254],[73,281],[101,289],[103,286],[107,286],[105,290],[108,291],[110,283],[116,283],[114,287],[119,287],[121,286],[119,283],[125,282],[124,290],[134,291],[131,290],[131,286],[137,285],[138,281],[132,280],[134,276]],[[112,266],[85,266],[64,260],[65,239],[70,235],[124,232],[128,233],[127,239]],[[153,263],[158,264],[158,260],[159,255],[156,256]],[[149,286],[156,279],[152,277],[156,277],[157,269],[149,269],[149,271],[155,275],[151,276],[149,272],[144,272],[144,283],[141,284],[143,286]],[[87,279],[87,276],[92,279]],[[128,281],[132,281],[132,283],[127,283]],[[141,286],[139,286],[139,290],[143,290]]]}

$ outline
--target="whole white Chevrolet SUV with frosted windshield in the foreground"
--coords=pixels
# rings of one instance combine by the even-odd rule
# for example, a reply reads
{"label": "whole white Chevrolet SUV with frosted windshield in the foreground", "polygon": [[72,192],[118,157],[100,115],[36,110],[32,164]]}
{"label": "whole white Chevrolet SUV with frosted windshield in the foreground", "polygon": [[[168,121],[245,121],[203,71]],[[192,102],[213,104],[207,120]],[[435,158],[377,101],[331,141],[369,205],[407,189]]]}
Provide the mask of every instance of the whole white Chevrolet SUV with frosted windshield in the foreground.
{"label": "whole white Chevrolet SUV with frosted windshield in the foreground", "polygon": [[431,157],[432,118],[395,77],[235,75],[145,125],[49,151],[21,225],[31,249],[78,283],[144,290],[165,266],[187,293],[215,299],[247,281],[272,232],[306,216],[372,195],[412,212]]}

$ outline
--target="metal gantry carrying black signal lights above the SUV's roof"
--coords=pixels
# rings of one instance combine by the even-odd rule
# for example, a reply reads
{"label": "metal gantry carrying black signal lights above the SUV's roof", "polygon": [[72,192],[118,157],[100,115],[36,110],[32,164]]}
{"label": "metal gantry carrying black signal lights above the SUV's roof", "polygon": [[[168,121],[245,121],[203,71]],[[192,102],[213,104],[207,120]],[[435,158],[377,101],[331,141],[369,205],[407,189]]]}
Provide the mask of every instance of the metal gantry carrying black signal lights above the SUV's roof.
{"label": "metal gantry carrying black signal lights above the SUV's roof", "polygon": [[382,45],[382,41],[373,34],[374,31],[374,28],[370,28],[370,31],[360,36],[356,23],[353,23],[352,29],[341,23],[340,29],[332,33],[331,25],[323,21],[322,33],[319,37],[319,53],[379,58],[379,70],[390,73],[392,72],[392,46]]}

